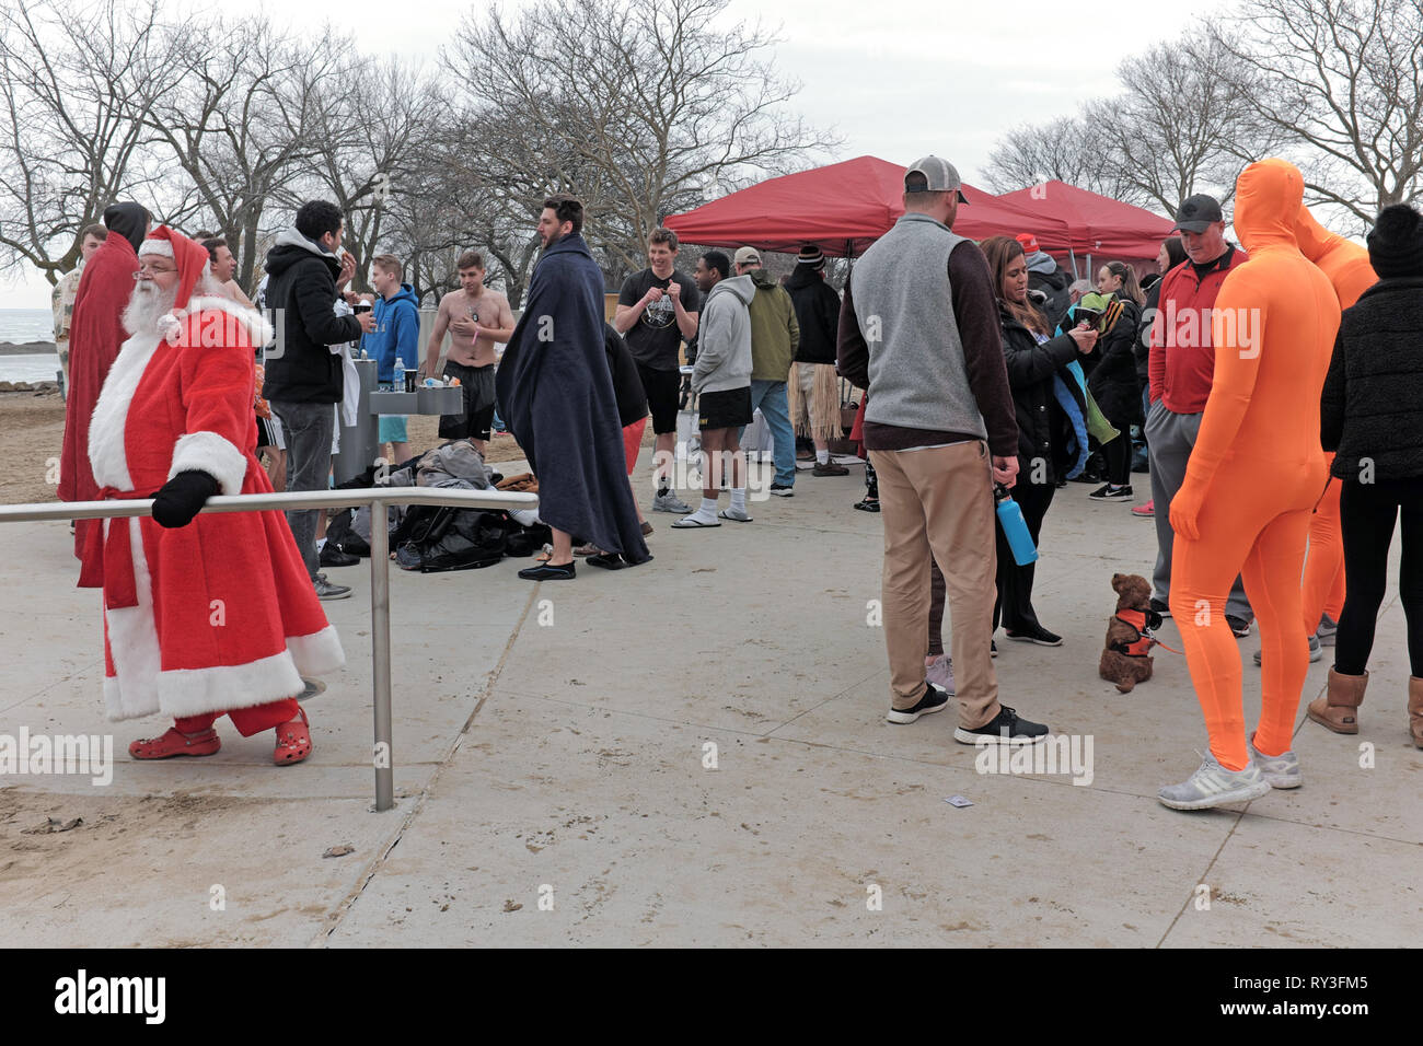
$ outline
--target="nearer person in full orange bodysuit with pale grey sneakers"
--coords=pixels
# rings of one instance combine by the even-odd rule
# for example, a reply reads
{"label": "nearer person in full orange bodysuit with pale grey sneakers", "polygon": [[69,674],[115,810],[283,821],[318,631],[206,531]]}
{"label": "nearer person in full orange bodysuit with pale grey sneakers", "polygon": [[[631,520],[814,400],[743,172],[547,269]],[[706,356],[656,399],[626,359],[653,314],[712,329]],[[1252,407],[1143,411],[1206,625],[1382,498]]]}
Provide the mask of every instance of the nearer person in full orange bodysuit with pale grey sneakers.
{"label": "nearer person in full orange bodysuit with pale grey sneakers", "polygon": [[[1251,164],[1237,182],[1235,231],[1249,260],[1215,300],[1211,396],[1171,501],[1171,613],[1211,741],[1191,780],[1161,790],[1177,808],[1258,798],[1269,791],[1264,764],[1294,760],[1289,737],[1309,666],[1299,578],[1326,478],[1319,390],[1339,329],[1335,289],[1295,239],[1302,202],[1303,178],[1282,159]],[[1225,622],[1237,572],[1264,649],[1258,764],[1247,746],[1239,648]],[[1278,780],[1298,784],[1298,761],[1291,781]]]}

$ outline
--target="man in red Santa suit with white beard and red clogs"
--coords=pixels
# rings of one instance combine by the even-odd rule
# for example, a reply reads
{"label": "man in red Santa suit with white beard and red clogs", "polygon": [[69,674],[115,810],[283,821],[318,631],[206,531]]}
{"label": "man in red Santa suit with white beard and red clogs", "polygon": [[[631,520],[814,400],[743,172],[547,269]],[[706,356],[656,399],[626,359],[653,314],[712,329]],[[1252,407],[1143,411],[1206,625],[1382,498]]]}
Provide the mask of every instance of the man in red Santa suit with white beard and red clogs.
{"label": "man in red Santa suit with white beard and red clogs", "polygon": [[138,260],[88,441],[101,497],[154,498],[151,519],[105,519],[84,551],[102,578],[108,717],[174,717],[134,759],[211,756],[226,714],[243,737],[276,730],[273,760],[300,763],[302,675],[342,667],[340,640],[280,512],[199,515],[215,494],[272,491],[252,413],[253,346],[272,332],[178,232],[155,229]]}

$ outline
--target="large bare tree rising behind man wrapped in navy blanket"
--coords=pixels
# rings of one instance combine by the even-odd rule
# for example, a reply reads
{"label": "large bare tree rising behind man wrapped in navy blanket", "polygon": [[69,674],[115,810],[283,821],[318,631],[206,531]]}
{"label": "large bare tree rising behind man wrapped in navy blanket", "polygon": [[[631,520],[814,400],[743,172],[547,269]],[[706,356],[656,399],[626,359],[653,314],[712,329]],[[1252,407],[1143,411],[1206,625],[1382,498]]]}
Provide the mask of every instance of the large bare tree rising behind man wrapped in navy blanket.
{"label": "large bare tree rising behind man wrapped in navy blanket", "polygon": [[703,202],[709,179],[781,174],[837,144],[787,112],[798,84],[763,58],[777,38],[723,26],[727,4],[538,0],[517,17],[468,17],[443,53],[482,95],[460,121],[461,155],[478,157],[472,174],[494,195],[575,191],[589,245],[620,279],[666,213]]}

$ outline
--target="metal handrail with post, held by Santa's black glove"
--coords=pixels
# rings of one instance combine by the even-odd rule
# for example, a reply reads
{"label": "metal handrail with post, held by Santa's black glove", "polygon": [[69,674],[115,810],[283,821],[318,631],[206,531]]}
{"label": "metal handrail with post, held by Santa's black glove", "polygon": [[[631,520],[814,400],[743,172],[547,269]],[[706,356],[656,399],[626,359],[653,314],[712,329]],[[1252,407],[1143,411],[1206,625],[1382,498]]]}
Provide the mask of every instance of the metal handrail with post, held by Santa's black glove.
{"label": "metal handrail with post, held by Santa's black glove", "polygon": [[[354,508],[357,505],[454,505],[458,508],[535,508],[536,494],[467,491],[440,487],[363,487],[357,490],[283,491],[208,498],[203,512],[266,512],[300,508]],[[3,522],[50,519],[114,519],[151,517],[152,498],[132,501],[65,501],[58,504],[0,505]],[[390,521],[386,512],[370,514],[370,635],[376,743],[376,810],[396,805],[396,767],[390,712]]]}

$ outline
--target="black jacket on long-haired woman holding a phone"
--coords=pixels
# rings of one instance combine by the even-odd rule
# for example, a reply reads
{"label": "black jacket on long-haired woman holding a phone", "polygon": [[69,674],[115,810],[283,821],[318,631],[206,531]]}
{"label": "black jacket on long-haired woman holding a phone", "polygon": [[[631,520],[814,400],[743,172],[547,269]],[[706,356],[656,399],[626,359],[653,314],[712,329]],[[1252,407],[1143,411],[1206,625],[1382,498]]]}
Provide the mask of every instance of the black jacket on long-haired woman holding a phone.
{"label": "black jacket on long-haired woman holding a phone", "polygon": [[[1017,481],[1044,485],[1056,484],[1072,465],[1067,441],[1072,421],[1053,394],[1053,374],[1077,359],[1077,343],[1069,334],[1037,344],[1037,339],[1019,323],[999,302],[1003,323],[1003,361],[1007,364],[1007,384],[1013,390],[1013,410],[1017,416]],[[1069,381],[1076,379],[1067,377]],[[1047,463],[1035,470],[1033,460]]]}

